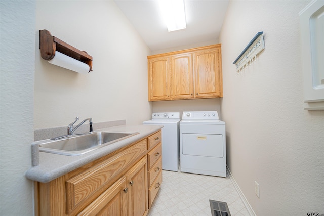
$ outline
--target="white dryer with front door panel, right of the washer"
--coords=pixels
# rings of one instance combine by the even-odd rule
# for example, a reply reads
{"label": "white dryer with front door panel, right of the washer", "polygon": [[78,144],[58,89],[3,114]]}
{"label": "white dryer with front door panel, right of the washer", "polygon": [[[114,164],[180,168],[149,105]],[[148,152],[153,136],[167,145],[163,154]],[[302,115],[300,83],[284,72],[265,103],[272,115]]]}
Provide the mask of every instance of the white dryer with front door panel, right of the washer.
{"label": "white dryer with front door panel, right of the washer", "polygon": [[180,171],[226,177],[225,122],[217,111],[183,112]]}

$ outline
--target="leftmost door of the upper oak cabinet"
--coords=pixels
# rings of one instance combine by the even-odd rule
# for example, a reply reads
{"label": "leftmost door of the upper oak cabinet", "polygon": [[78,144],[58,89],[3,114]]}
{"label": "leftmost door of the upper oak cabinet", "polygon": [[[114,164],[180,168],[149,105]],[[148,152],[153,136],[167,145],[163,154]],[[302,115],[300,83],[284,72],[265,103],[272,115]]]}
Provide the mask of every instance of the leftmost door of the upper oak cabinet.
{"label": "leftmost door of the upper oak cabinet", "polygon": [[148,60],[149,101],[170,100],[169,57]]}

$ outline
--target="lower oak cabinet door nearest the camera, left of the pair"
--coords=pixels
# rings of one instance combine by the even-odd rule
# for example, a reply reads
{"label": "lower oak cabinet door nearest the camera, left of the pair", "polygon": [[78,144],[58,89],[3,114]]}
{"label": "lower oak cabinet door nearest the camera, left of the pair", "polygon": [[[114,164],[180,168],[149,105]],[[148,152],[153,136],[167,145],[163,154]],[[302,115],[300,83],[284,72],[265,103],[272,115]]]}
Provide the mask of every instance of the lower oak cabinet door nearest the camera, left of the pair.
{"label": "lower oak cabinet door nearest the camera, left of the pair", "polygon": [[78,215],[128,215],[126,177],[117,180]]}

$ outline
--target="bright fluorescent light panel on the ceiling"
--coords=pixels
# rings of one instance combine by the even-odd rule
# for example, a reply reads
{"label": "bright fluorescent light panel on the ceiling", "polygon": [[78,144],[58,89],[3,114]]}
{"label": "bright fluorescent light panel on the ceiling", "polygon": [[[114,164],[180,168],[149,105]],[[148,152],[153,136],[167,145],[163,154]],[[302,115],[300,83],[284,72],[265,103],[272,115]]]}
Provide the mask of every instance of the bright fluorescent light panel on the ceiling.
{"label": "bright fluorescent light panel on the ceiling", "polygon": [[184,0],[159,0],[168,31],[187,28],[184,12]]}

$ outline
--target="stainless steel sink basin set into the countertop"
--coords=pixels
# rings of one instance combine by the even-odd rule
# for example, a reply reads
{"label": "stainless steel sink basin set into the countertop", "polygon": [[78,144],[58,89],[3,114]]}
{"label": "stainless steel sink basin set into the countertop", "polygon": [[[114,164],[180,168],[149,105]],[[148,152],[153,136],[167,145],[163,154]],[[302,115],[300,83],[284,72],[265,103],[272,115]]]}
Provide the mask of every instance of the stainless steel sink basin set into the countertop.
{"label": "stainless steel sink basin set into the countertop", "polygon": [[137,132],[93,132],[92,134],[70,135],[39,144],[39,151],[69,156],[86,154],[138,134]]}

